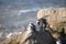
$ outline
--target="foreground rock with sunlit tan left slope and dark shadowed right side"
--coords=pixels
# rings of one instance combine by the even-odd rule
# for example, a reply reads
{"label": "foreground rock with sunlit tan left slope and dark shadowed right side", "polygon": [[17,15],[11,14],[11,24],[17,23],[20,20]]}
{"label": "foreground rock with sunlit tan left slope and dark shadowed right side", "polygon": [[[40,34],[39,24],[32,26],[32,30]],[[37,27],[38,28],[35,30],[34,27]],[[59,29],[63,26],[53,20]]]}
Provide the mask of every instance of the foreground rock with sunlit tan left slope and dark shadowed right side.
{"label": "foreground rock with sunlit tan left slope and dark shadowed right side", "polygon": [[55,41],[47,31],[35,33],[33,24],[29,24],[26,31],[22,34],[7,38],[0,44],[55,44]]}

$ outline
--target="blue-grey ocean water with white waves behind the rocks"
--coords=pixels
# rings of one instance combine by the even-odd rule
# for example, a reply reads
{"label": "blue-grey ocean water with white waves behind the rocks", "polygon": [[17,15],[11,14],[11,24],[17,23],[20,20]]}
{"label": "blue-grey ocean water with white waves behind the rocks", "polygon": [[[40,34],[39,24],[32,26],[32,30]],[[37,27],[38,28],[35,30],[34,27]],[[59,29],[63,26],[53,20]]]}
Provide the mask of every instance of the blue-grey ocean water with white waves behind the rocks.
{"label": "blue-grey ocean water with white waves behind the rocks", "polygon": [[0,41],[36,23],[37,11],[50,7],[66,7],[66,0],[0,0]]}

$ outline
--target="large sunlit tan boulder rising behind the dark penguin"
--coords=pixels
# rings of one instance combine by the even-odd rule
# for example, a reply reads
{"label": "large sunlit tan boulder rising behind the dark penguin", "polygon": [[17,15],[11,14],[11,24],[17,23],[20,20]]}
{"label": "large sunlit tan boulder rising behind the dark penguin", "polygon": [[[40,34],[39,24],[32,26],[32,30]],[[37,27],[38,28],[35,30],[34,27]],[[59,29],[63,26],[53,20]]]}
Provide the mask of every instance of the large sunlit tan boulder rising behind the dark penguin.
{"label": "large sunlit tan boulder rising behind the dark penguin", "polygon": [[53,34],[55,38],[59,37],[63,32],[66,34],[66,8],[47,8],[37,12],[37,19],[46,19],[47,24],[56,33]]}

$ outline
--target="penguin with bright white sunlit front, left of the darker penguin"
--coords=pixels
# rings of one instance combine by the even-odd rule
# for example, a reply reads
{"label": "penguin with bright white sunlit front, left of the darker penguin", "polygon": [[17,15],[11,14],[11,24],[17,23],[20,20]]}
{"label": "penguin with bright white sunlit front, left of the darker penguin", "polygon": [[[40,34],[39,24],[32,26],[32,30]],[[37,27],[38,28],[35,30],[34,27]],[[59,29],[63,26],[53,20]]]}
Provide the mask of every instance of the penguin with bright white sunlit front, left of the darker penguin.
{"label": "penguin with bright white sunlit front, left of the darker penguin", "polygon": [[33,22],[29,23],[28,29],[26,29],[26,34],[28,34],[28,38],[25,41],[28,41],[28,44],[34,44],[35,42],[35,36],[37,34],[36,31],[36,26],[33,24]]}

